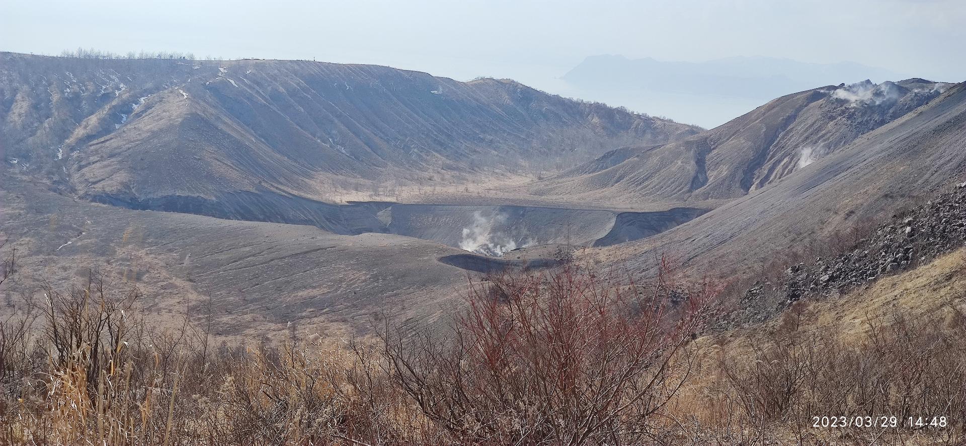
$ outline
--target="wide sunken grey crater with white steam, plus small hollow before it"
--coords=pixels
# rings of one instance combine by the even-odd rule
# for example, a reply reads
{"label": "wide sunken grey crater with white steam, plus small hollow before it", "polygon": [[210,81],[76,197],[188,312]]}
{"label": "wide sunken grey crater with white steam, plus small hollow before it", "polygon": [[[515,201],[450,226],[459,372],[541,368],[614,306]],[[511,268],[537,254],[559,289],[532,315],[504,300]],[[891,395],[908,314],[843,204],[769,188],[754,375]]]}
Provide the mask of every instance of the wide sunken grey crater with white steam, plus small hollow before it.
{"label": "wide sunken grey crater with white steam, plus small hollow before it", "polygon": [[[561,244],[606,247],[664,232],[708,212],[673,208],[660,212],[617,212],[540,206],[405,204],[384,201],[323,203],[279,193],[226,193],[212,198],[169,195],[136,198],[89,196],[92,201],[130,209],[198,214],[230,220],[309,224],[342,235],[375,232],[428,240],[468,252],[440,258],[469,271],[511,267],[543,268],[553,259],[502,259],[527,247]],[[497,261],[499,260],[499,261]]]}

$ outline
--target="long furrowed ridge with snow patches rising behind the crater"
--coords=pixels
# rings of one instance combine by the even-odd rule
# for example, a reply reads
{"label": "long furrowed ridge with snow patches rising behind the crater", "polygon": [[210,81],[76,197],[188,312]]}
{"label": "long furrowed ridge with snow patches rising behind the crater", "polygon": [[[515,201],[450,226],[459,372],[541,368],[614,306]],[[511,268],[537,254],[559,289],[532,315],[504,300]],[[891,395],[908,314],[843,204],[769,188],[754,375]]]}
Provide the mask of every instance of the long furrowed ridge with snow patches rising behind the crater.
{"label": "long furrowed ridge with snow patches rising behind the crater", "polygon": [[698,130],[510,80],[306,61],[0,53],[3,163],[134,207],[232,193],[326,199],[341,181],[546,168]]}

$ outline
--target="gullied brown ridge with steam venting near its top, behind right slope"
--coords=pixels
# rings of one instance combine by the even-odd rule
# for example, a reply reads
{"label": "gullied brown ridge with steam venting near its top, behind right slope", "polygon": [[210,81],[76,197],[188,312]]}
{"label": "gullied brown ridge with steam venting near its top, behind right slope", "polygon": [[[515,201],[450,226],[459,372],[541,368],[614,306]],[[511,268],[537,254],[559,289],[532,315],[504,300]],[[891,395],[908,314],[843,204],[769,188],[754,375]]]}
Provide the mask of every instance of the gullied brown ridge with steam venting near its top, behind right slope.
{"label": "gullied brown ridge with steam venting near its top, behind right slope", "polygon": [[829,156],[928,104],[951,85],[914,78],[796,93],[696,136],[611,151],[529,190],[547,196],[720,204]]}

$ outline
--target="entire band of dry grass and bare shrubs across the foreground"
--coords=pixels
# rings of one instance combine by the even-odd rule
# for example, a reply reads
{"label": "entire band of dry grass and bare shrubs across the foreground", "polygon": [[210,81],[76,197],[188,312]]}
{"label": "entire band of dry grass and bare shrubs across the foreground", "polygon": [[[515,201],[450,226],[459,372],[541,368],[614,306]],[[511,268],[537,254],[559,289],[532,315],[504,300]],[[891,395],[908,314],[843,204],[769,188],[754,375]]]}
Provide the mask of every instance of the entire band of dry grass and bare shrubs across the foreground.
{"label": "entire band of dry grass and bare shrubs across the foreground", "polygon": [[[963,267],[950,258],[934,279],[955,287]],[[470,283],[450,327],[383,319],[376,335],[338,345],[296,334],[216,344],[210,317],[152,328],[128,282],[91,273],[47,284],[43,302],[0,322],[0,443],[963,440],[961,288],[935,311],[855,310],[861,320],[848,329],[828,320],[827,303],[800,304],[762,326],[699,337],[721,287],[673,273],[665,262],[649,283],[578,266],[494,275]],[[946,416],[948,427],[812,427],[814,416],[839,415]]]}

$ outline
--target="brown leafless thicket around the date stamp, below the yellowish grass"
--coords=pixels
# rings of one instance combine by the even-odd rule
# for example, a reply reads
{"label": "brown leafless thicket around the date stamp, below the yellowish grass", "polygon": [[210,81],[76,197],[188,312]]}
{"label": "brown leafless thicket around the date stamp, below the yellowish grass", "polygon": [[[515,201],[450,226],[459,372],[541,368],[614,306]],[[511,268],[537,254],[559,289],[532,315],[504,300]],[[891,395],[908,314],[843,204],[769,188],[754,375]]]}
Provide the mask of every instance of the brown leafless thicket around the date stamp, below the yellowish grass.
{"label": "brown leafless thicket around the date stamp, below the yellowish grass", "polygon": [[[723,385],[711,387],[720,411],[719,427],[753,427],[756,438],[776,431],[798,438],[814,434],[814,416],[895,416],[899,426],[840,431],[857,444],[889,434],[900,443],[914,435],[936,444],[958,444],[962,427],[952,420],[966,415],[966,336],[962,312],[952,317],[913,317],[904,312],[867,319],[867,333],[841,339],[835,327],[801,329],[785,313],[778,326],[749,342],[748,354],[723,354],[718,372]],[[922,430],[914,421],[945,416],[950,429]],[[905,423],[905,427],[902,424]],[[904,439],[903,439],[904,438]],[[921,444],[921,443],[919,443]]]}

